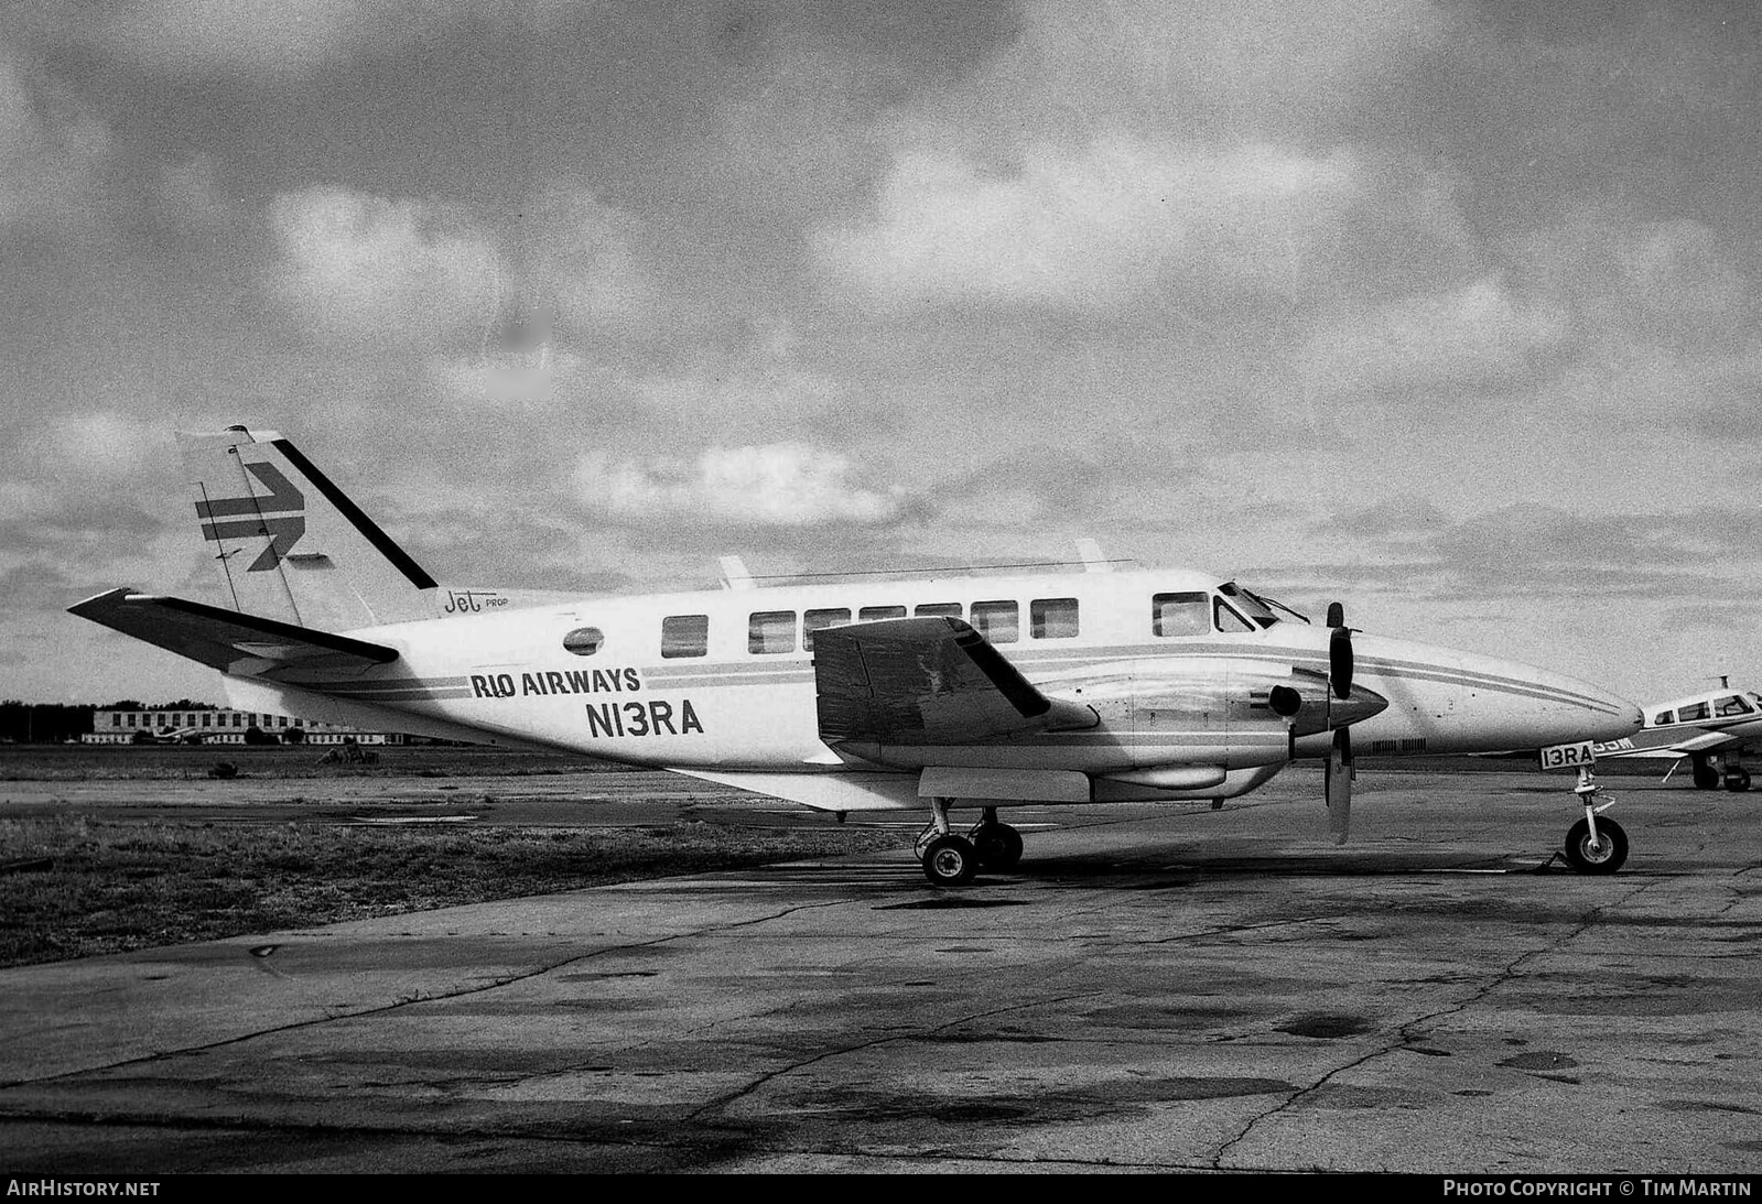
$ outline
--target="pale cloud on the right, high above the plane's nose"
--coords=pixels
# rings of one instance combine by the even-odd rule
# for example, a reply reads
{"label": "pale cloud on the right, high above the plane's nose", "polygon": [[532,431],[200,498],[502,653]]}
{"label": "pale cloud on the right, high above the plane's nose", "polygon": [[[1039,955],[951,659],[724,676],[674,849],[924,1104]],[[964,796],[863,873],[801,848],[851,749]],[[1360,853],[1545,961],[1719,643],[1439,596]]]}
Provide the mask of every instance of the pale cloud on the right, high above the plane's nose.
{"label": "pale cloud on the right, high above the plane's nose", "polygon": [[1336,319],[1299,359],[1336,391],[1489,389],[1522,378],[1572,336],[1572,315],[1496,276]]}

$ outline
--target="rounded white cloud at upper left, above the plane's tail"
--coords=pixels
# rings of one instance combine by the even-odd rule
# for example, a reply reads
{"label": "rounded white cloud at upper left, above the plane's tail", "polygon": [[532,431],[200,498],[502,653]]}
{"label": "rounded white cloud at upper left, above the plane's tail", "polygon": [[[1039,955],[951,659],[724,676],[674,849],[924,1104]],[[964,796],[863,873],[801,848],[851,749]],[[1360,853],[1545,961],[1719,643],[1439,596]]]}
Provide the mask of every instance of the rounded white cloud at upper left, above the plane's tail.
{"label": "rounded white cloud at upper left, above the plane's tail", "polygon": [[277,197],[273,292],[321,334],[435,341],[493,320],[506,266],[458,211],[340,187]]}

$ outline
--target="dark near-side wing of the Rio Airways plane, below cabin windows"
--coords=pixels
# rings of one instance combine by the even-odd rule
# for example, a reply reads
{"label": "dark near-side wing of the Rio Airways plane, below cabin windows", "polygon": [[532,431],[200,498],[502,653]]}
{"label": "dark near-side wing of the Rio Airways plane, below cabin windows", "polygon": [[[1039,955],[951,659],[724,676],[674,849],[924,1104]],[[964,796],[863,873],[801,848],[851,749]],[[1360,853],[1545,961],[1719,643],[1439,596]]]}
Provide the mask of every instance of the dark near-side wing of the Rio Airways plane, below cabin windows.
{"label": "dark near-side wing of the Rio Airways plane, below cabin windows", "polygon": [[814,632],[814,685],[819,738],[858,755],[1099,722],[1087,706],[1048,699],[980,632],[946,616]]}

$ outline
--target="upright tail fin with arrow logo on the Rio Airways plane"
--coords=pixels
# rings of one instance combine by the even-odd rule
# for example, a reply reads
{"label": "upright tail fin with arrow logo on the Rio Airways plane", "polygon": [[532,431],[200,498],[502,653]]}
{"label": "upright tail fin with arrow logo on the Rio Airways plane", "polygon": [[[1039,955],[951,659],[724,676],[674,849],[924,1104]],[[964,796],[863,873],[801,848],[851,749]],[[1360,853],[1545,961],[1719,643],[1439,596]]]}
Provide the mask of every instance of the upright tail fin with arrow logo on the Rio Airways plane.
{"label": "upright tail fin with arrow logo on the Rio Airways plane", "polygon": [[234,426],[180,445],[233,611],[321,632],[439,614],[433,577],[289,440]]}

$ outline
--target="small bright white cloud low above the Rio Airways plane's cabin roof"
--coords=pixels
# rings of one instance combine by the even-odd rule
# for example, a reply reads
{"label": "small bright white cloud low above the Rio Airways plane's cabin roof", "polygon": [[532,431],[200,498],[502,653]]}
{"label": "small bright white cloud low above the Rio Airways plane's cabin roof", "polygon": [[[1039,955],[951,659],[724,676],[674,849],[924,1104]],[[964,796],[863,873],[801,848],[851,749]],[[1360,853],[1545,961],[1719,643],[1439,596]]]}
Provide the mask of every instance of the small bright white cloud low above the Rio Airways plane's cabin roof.
{"label": "small bright white cloud low above the Rio Airways plane's cabin roof", "polygon": [[848,456],[811,444],[710,447],[692,459],[587,456],[574,472],[580,496],[618,518],[691,516],[759,526],[874,525],[904,509],[900,489],[858,481]]}

